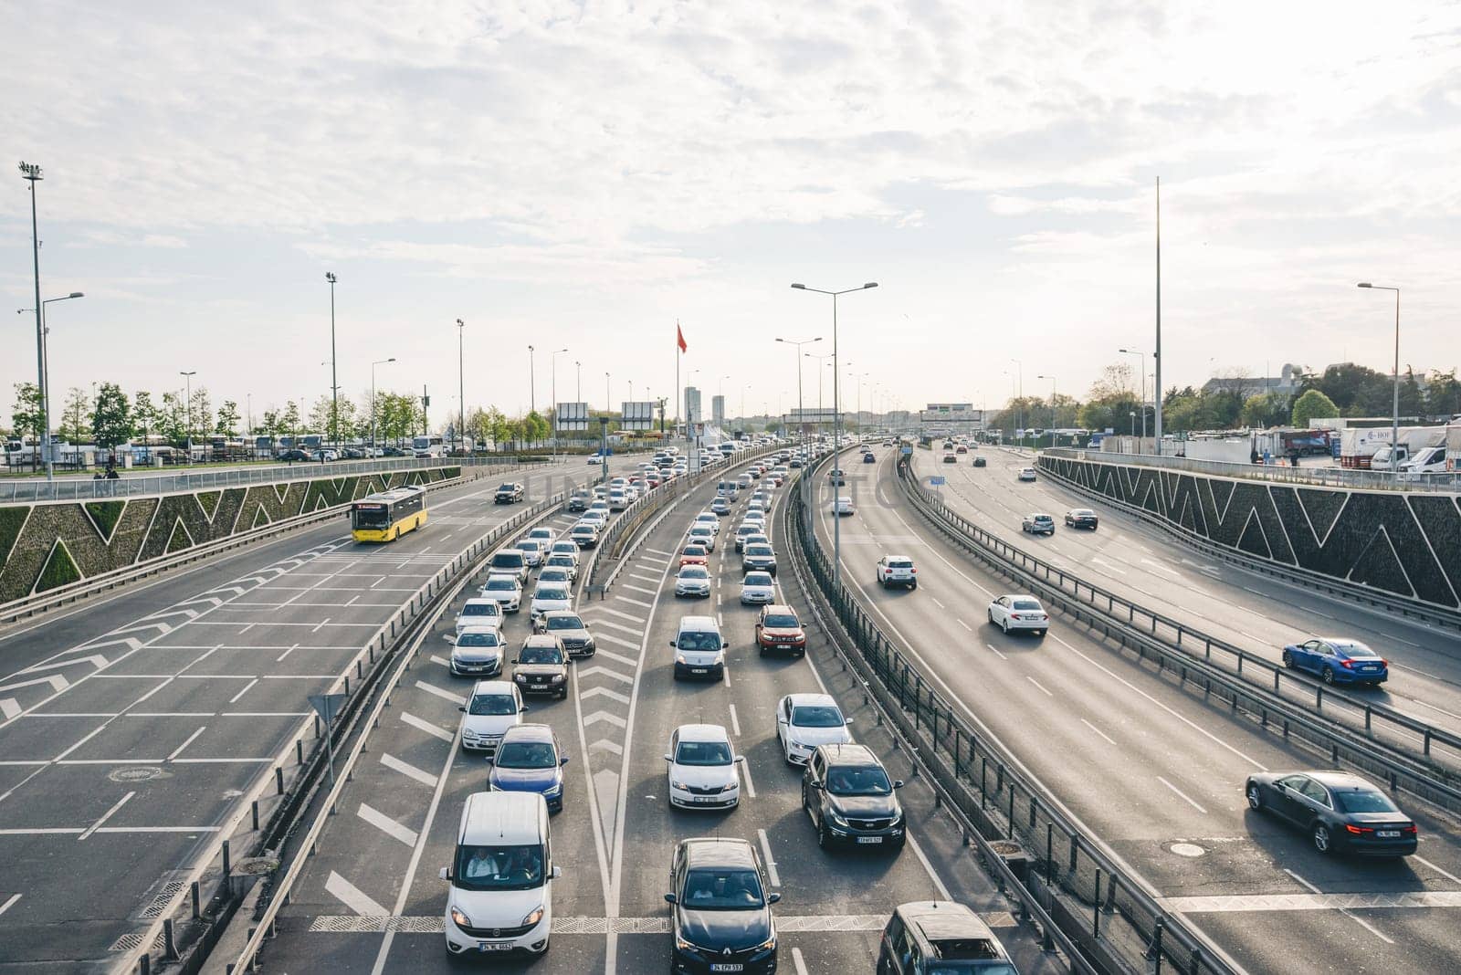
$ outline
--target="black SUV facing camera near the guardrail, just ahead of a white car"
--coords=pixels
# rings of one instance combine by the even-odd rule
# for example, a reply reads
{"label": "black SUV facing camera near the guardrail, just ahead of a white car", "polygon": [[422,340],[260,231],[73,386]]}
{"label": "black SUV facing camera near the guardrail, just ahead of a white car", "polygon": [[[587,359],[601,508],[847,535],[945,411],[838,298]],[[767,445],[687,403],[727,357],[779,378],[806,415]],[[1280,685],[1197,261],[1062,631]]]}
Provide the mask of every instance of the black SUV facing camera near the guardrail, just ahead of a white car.
{"label": "black SUV facing camera near the guardrail, just ahead of a white car", "polygon": [[893,847],[907,839],[903,806],[878,758],[862,744],[821,744],[802,774],[802,809],[817,828],[817,845]]}

